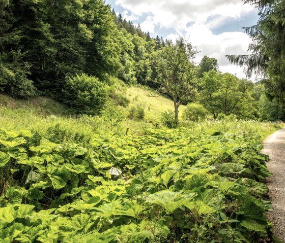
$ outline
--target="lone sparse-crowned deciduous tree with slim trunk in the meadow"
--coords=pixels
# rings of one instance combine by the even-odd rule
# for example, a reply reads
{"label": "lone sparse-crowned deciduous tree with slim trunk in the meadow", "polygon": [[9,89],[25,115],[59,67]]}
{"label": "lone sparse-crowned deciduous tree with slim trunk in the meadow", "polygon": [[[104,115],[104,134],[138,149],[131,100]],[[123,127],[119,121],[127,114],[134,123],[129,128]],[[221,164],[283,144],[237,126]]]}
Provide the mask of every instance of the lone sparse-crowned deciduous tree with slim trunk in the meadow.
{"label": "lone sparse-crowned deciduous tree with slim trunk in the meadow", "polygon": [[183,38],[176,40],[176,43],[166,41],[165,47],[157,54],[160,71],[158,92],[172,98],[176,125],[179,106],[193,100],[196,94],[193,63],[196,54],[196,48]]}

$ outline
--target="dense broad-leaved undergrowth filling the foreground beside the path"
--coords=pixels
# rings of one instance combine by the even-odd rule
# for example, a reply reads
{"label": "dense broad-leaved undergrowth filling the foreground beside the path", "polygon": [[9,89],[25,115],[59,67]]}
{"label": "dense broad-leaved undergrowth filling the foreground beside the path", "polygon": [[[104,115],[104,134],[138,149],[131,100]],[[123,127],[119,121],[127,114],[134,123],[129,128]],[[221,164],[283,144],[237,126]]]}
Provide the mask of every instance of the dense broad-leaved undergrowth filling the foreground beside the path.
{"label": "dense broad-leaved undergrowth filling the foreground beside the path", "polygon": [[0,242],[257,242],[272,210],[261,139],[281,126],[206,122],[85,145],[1,129]]}

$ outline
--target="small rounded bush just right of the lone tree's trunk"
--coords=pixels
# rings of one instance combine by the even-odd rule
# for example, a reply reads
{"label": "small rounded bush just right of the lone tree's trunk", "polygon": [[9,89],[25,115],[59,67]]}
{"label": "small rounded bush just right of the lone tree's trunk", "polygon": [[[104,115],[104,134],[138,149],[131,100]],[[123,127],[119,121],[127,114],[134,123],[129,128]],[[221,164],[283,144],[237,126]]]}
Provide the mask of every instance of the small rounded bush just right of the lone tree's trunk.
{"label": "small rounded bush just right of the lone tree's trunk", "polygon": [[186,121],[203,121],[207,116],[207,110],[200,104],[189,103],[183,112],[183,119]]}

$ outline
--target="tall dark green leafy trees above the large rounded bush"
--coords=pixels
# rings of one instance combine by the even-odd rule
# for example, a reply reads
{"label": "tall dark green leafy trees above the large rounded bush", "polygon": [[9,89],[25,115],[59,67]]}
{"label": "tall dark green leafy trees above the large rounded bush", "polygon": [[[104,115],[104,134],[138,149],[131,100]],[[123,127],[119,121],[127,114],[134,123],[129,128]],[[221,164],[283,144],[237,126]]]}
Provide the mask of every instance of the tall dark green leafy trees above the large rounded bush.
{"label": "tall dark green leafy trees above the large rounded bush", "polygon": [[[62,100],[66,80],[76,73],[104,82],[117,75],[121,49],[113,36],[118,30],[102,0],[5,1],[0,8],[1,68],[13,69],[17,86],[26,86],[19,97],[31,96],[30,80]],[[0,87],[12,82],[7,72],[2,78]]]}

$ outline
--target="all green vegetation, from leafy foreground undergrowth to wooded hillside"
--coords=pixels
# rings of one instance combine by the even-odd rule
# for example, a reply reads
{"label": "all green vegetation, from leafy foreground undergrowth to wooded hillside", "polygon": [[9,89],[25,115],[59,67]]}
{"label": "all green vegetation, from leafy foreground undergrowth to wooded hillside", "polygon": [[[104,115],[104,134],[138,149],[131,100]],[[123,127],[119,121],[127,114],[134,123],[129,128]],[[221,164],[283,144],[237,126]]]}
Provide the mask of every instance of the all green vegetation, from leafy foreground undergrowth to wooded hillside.
{"label": "all green vegetation, from leafy foreground undergrowth to wooded hillside", "polygon": [[272,238],[261,149],[284,124],[260,121],[285,119],[284,1],[245,2],[257,45],[230,60],[262,84],[103,0],[0,0],[0,242]]}

